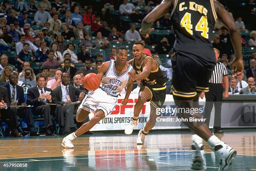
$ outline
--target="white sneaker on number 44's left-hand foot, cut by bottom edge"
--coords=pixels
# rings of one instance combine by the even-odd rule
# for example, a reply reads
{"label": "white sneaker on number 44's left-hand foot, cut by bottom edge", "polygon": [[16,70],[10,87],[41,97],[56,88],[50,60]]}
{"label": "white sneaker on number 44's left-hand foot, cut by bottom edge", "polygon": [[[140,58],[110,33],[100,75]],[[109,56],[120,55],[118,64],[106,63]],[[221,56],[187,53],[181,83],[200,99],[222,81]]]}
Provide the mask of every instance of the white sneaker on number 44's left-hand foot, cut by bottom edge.
{"label": "white sneaker on number 44's left-hand foot, cut by bottom edge", "polygon": [[197,143],[193,142],[191,149],[192,149],[192,159],[193,159],[193,164],[191,169],[204,170],[205,169],[205,162],[203,159],[204,146],[201,144],[201,147],[200,147],[198,146]]}

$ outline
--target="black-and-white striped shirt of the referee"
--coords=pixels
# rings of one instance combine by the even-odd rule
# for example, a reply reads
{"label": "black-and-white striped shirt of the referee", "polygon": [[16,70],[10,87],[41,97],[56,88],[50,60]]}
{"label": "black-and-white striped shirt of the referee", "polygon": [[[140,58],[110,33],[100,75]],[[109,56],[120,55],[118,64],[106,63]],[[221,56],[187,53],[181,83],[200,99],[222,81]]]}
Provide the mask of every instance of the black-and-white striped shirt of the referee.
{"label": "black-and-white striped shirt of the referee", "polygon": [[228,71],[225,65],[221,62],[217,62],[214,70],[212,71],[212,76],[209,79],[209,83],[222,84],[223,77],[228,75]]}

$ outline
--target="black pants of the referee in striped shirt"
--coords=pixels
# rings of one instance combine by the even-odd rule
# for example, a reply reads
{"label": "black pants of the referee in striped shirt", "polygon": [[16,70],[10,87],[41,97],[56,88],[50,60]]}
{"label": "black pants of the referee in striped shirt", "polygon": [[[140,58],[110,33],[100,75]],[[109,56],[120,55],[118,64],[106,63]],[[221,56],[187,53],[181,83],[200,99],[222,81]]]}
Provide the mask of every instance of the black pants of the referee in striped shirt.
{"label": "black pants of the referee in striped shirt", "polygon": [[204,118],[205,123],[209,126],[212,107],[214,104],[215,114],[214,114],[214,125],[215,130],[221,129],[221,104],[223,96],[223,87],[222,84],[209,83],[209,92],[205,93],[205,113]]}

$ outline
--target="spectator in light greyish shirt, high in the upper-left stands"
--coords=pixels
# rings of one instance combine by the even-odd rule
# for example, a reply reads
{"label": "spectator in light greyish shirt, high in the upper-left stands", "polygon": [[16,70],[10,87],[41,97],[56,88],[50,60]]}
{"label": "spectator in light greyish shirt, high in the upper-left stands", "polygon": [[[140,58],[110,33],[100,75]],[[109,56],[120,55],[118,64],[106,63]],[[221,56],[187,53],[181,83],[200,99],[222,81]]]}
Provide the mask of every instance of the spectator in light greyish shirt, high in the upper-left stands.
{"label": "spectator in light greyish shirt, high in the upper-left stands", "polygon": [[34,20],[37,25],[44,25],[49,19],[51,19],[51,15],[45,11],[45,6],[41,3],[40,10],[36,12]]}

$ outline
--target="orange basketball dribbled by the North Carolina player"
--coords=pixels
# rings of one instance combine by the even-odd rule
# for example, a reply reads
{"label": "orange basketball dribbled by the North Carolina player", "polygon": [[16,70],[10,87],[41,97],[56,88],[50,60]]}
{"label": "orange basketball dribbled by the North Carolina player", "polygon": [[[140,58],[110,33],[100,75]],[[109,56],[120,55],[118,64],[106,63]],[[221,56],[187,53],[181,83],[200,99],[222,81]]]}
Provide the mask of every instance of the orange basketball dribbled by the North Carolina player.
{"label": "orange basketball dribbled by the North Carolina player", "polygon": [[95,90],[100,87],[100,78],[95,73],[86,74],[83,78],[83,85],[87,90]]}

